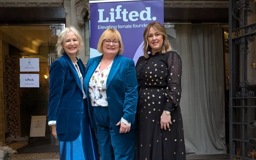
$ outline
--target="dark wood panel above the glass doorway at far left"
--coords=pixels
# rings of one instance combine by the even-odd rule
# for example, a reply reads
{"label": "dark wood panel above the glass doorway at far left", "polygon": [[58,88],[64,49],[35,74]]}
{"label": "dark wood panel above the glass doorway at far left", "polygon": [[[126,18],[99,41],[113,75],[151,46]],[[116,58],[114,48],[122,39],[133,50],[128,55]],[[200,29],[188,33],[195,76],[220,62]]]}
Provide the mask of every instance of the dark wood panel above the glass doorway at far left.
{"label": "dark wood panel above the glass doorway at far left", "polygon": [[65,8],[0,7],[0,25],[44,23],[65,23]]}

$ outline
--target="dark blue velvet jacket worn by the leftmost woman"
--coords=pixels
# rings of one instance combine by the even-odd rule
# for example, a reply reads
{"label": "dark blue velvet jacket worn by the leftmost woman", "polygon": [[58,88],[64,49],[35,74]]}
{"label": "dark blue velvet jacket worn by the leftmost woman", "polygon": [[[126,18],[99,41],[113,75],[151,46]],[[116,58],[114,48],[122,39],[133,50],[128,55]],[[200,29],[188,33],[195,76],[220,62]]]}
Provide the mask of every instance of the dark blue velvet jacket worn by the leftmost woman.
{"label": "dark blue velvet jacket worn by the leftmost woman", "polygon": [[[84,76],[85,67],[79,59]],[[56,121],[60,141],[76,140],[81,130],[83,90],[76,68],[66,53],[54,61],[50,68],[50,96],[48,121]]]}

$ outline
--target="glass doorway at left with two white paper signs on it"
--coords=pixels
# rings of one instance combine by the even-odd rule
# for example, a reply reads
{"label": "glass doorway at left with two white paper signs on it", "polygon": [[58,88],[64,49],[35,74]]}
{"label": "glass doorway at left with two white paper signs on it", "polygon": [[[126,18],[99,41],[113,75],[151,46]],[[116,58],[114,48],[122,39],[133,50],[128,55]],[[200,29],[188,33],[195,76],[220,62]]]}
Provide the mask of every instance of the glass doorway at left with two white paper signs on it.
{"label": "glass doorway at left with two white paper signs on it", "polygon": [[[48,77],[50,65],[58,59],[55,45],[64,28],[65,24],[0,26],[4,144],[18,153],[59,151],[48,126]],[[39,69],[26,70],[31,65],[38,68],[38,63]],[[34,82],[27,82],[28,79]],[[40,134],[35,134],[35,125],[43,128]]]}

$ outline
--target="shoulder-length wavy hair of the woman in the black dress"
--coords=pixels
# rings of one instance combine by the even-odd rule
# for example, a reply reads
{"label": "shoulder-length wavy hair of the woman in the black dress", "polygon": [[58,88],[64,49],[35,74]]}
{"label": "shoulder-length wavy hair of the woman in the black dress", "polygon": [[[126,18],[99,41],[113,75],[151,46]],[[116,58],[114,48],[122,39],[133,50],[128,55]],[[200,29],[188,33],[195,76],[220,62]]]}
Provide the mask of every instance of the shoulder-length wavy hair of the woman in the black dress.
{"label": "shoulder-length wavy hair of the woman in the black dress", "polygon": [[144,38],[144,44],[143,44],[143,52],[144,52],[144,57],[148,58],[148,52],[152,52],[151,47],[148,44],[148,32],[149,29],[153,27],[156,29],[156,31],[158,33],[160,33],[163,36],[163,45],[162,45],[162,50],[161,53],[167,53],[170,52],[172,50],[171,44],[168,41],[168,37],[167,37],[167,33],[166,30],[164,28],[164,26],[162,24],[160,24],[159,22],[151,22],[148,24],[148,26],[146,27],[144,34],[143,34],[143,38]]}

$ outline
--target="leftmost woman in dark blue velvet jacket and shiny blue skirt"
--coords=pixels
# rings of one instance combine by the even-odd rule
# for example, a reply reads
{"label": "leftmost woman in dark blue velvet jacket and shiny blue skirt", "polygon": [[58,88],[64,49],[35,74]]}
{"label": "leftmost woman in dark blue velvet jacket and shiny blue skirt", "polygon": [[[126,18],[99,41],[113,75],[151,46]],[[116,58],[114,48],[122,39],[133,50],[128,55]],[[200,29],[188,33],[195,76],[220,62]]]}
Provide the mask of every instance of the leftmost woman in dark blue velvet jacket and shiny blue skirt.
{"label": "leftmost woman in dark blue velvet jacket and shiny blue skirt", "polygon": [[80,47],[83,40],[76,28],[65,28],[56,44],[60,58],[50,68],[48,124],[60,141],[60,160],[99,160],[83,87],[85,67],[76,58]]}

